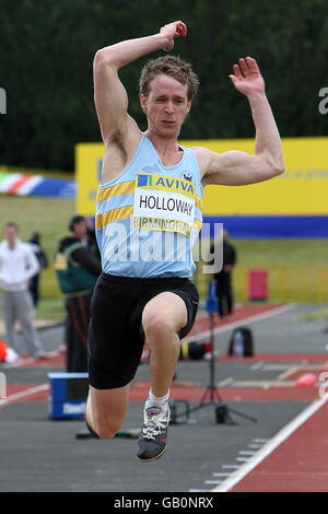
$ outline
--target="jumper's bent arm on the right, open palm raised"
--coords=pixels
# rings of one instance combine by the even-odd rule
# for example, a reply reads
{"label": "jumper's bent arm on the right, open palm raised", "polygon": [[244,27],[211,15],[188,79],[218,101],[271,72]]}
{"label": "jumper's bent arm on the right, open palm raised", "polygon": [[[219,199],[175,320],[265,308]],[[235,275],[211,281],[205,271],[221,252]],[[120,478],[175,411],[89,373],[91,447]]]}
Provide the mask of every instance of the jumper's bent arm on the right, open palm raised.
{"label": "jumper's bent arm on the right, open palm raised", "polygon": [[230,75],[237,91],[250,106],[256,137],[255,152],[232,150],[221,154],[195,148],[200,164],[202,184],[241,186],[272,178],[284,171],[280,135],[265,92],[265,81],[251,57],[239,59]]}

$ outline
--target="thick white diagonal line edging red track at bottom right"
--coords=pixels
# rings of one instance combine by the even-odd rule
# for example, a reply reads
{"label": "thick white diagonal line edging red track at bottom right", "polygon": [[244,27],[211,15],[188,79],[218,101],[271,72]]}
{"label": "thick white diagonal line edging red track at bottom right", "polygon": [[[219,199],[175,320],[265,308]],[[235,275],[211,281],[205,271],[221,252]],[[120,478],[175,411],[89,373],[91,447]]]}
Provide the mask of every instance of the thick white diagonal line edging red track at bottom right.
{"label": "thick white diagonal line edging red track at bottom right", "polygon": [[269,440],[254,457],[242,465],[236,471],[232,472],[230,478],[224,480],[212,492],[229,492],[236,483],[246,477],[256,466],[258,466],[268,455],[270,455],[281,443],[283,443],[298,427],[305,423],[318,409],[328,400],[328,395],[313,401],[290,423],[283,427],[271,440]]}

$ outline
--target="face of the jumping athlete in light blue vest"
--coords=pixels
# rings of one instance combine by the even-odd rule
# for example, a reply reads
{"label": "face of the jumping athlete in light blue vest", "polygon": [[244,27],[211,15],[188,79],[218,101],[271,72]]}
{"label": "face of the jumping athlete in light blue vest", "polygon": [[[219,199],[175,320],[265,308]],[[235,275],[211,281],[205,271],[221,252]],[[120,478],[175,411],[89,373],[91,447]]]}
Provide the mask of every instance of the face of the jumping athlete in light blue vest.
{"label": "face of the jumping athlete in light blue vest", "polygon": [[141,106],[147,113],[149,126],[163,138],[177,138],[190,110],[187,84],[169,75],[155,75],[150,84],[148,97],[141,95]]}

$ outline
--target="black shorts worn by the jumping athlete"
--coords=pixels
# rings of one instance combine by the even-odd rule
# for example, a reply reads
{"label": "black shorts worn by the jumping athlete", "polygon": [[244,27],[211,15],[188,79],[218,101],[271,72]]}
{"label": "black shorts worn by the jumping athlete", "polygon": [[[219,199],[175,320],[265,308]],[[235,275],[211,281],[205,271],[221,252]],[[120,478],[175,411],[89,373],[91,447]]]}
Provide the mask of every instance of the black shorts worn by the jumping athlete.
{"label": "black shorts worn by the jumping athlete", "polygon": [[187,325],[178,334],[183,339],[192,328],[199,302],[189,279],[99,276],[89,327],[89,382],[93,387],[122,387],[133,378],[144,344],[142,311],[164,291],[178,294],[186,304]]}

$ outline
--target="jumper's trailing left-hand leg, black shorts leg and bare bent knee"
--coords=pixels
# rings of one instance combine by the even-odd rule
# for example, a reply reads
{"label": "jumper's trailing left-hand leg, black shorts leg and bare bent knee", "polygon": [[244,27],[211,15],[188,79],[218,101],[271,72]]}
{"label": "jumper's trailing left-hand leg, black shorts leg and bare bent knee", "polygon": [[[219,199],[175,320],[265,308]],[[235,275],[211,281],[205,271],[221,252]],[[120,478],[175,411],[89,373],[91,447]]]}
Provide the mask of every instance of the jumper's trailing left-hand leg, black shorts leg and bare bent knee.
{"label": "jumper's trailing left-hand leg, black shorts leg and bare bent knee", "polygon": [[85,421],[101,439],[114,437],[128,408],[132,372],[127,296],[124,283],[113,282],[103,273],[91,304]]}

